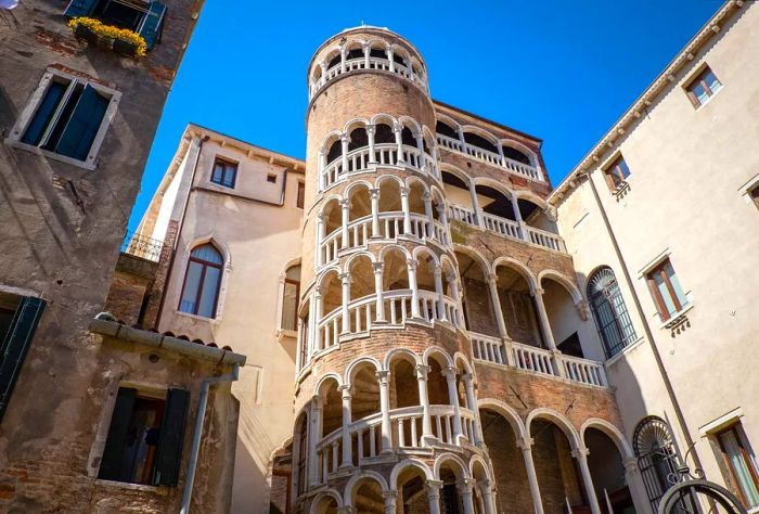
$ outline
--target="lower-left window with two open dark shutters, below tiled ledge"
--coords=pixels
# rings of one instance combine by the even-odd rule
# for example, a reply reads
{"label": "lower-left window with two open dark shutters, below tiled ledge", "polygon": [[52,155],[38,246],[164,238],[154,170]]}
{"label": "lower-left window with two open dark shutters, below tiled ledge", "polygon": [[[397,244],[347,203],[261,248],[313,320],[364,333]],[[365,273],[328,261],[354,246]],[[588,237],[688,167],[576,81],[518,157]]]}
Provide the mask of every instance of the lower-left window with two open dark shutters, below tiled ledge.
{"label": "lower-left window with two open dark shutters, below tiled ledge", "polygon": [[120,387],[98,478],[176,486],[190,393],[165,395]]}

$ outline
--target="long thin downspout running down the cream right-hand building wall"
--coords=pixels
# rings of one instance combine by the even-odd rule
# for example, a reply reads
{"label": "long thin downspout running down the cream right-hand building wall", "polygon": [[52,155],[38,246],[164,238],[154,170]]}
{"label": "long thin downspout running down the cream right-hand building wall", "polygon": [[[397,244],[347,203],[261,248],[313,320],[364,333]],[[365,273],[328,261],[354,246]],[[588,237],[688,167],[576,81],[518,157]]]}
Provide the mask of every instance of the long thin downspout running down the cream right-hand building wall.
{"label": "long thin downspout running down the cream right-hand building wall", "polygon": [[593,183],[593,180],[588,171],[584,171],[584,172],[580,174],[579,176],[584,177],[588,180],[588,183],[590,183],[590,189],[593,191],[593,197],[595,198],[595,204],[599,206],[599,210],[601,211],[601,217],[603,218],[604,226],[606,227],[606,232],[608,233],[608,236],[612,240],[612,246],[614,246],[614,253],[617,255],[617,259],[619,259],[619,264],[622,265],[622,274],[625,275],[625,282],[627,282],[627,286],[630,290],[630,294],[632,295],[632,300],[635,304],[635,310],[638,311],[638,317],[643,322],[643,331],[645,332],[646,338],[648,339],[648,345],[651,345],[651,349],[654,352],[654,359],[656,360],[656,365],[659,369],[659,373],[661,374],[661,380],[664,381],[665,388],[667,389],[667,395],[669,396],[669,401],[672,403],[672,409],[674,409],[674,415],[678,419],[678,424],[680,425],[680,432],[682,432],[683,437],[685,437],[685,445],[686,445],[687,449],[692,450],[692,452],[693,452],[693,463],[695,464],[695,467],[703,470],[700,459],[698,459],[698,453],[696,452],[695,442],[693,441],[693,438],[691,437],[691,433],[687,429],[687,424],[685,423],[685,416],[682,413],[682,409],[680,408],[680,402],[678,401],[678,397],[674,394],[674,388],[672,387],[672,382],[669,380],[669,374],[667,373],[667,369],[665,368],[664,361],[661,360],[661,355],[659,354],[659,349],[656,347],[656,343],[654,342],[654,333],[651,330],[651,325],[648,324],[648,320],[645,318],[645,313],[643,311],[643,306],[641,305],[641,300],[638,297],[638,293],[635,292],[635,288],[633,287],[632,278],[630,277],[630,272],[628,270],[627,262],[625,261],[625,257],[622,257],[622,252],[619,248],[619,243],[617,242],[617,237],[614,235],[614,230],[612,230],[612,223],[608,220],[608,216],[606,216],[606,210],[604,209],[604,206],[601,203],[601,196],[599,196],[599,190],[595,189],[595,184]]}

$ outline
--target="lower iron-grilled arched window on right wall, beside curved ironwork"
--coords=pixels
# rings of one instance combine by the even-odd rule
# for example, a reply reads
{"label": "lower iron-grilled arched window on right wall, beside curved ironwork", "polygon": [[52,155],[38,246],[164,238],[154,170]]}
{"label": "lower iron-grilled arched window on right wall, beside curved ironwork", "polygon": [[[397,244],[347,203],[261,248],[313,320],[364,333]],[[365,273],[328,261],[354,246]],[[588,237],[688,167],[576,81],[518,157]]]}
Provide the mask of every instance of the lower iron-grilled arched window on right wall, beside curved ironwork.
{"label": "lower iron-grilled arched window on right wall, beside curved ironwork", "polygon": [[661,417],[649,415],[635,427],[632,445],[648,501],[653,511],[657,512],[661,497],[679,481],[677,470],[680,454],[674,446],[672,432]]}

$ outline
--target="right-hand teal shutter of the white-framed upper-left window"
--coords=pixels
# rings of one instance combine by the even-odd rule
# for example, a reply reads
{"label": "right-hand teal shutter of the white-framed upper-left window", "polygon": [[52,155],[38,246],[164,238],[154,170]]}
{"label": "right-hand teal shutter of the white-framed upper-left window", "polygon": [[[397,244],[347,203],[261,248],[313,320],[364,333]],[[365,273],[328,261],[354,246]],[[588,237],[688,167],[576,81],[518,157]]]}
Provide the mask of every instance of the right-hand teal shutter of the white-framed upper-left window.
{"label": "right-hand teal shutter of the white-framed upper-left window", "polygon": [[72,116],[63,129],[55,152],[61,155],[86,160],[90,153],[100,124],[103,121],[108,101],[89,83],[85,86]]}

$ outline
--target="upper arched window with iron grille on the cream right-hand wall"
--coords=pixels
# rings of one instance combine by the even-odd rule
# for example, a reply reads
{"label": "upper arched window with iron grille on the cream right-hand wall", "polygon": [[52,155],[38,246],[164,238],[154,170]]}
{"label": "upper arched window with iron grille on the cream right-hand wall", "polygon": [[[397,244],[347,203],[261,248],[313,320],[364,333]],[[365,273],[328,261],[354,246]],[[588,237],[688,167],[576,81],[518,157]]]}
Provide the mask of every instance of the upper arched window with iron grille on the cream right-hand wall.
{"label": "upper arched window with iron grille on the cream right-hand wall", "polygon": [[601,268],[588,280],[588,300],[607,358],[635,340],[635,329],[610,268]]}

